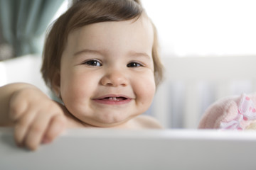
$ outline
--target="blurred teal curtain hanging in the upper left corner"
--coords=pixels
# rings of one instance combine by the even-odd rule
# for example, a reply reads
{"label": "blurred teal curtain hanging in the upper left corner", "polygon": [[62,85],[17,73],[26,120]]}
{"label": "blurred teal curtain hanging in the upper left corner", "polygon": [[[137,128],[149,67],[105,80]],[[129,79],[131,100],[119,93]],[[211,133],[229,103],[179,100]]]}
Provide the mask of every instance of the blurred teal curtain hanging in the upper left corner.
{"label": "blurred teal curtain hanging in the upper left corner", "polygon": [[62,3],[63,0],[0,0],[2,38],[13,47],[15,56],[41,52],[42,35]]}

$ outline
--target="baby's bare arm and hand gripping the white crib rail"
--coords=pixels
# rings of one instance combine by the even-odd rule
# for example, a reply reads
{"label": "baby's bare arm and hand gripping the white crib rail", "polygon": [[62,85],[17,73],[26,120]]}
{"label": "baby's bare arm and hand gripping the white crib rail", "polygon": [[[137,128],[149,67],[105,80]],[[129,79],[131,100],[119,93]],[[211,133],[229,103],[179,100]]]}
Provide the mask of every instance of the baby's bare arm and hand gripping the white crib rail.
{"label": "baby's bare arm and hand gripping the white crib rail", "polygon": [[17,145],[36,149],[65,129],[62,108],[31,84],[0,87],[0,126],[14,126]]}

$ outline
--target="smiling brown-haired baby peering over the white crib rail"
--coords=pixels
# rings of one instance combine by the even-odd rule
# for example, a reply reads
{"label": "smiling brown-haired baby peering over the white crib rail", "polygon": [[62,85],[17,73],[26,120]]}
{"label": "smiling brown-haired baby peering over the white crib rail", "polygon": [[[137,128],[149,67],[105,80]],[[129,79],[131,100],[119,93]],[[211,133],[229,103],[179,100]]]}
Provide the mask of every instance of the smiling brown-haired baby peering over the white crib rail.
{"label": "smiling brown-haired baby peering over the white crib rail", "polygon": [[[156,29],[137,0],[77,1],[46,37],[41,72],[57,103],[31,84],[0,88],[0,125],[36,149],[65,128],[161,128],[142,116],[162,79]],[[140,116],[137,116],[140,115]]]}

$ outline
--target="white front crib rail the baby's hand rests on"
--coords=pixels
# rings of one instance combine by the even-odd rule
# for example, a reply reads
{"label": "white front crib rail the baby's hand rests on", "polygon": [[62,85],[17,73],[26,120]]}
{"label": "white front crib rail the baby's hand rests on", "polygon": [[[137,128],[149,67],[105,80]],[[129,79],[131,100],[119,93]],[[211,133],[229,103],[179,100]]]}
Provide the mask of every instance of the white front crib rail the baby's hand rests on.
{"label": "white front crib rail the baby's hand rests on", "polygon": [[0,128],[0,169],[254,170],[255,132],[69,130],[36,152]]}

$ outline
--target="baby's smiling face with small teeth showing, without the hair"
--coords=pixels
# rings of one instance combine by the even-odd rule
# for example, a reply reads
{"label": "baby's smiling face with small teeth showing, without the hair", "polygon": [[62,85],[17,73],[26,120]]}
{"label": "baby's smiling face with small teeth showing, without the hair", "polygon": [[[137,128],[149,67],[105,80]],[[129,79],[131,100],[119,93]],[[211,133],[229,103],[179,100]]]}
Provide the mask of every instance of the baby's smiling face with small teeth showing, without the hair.
{"label": "baby's smiling face with small teeth showing, without the hair", "polygon": [[100,127],[144,113],[156,89],[153,41],[144,17],[73,30],[60,67],[60,94],[68,111]]}

